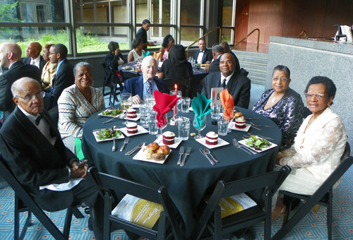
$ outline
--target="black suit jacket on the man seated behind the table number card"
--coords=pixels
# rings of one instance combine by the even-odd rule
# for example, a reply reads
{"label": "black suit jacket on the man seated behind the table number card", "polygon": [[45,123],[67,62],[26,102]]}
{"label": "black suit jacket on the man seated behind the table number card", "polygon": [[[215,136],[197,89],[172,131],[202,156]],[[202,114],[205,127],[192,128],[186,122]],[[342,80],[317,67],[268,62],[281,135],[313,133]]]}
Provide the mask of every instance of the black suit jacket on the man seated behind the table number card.
{"label": "black suit jacket on the man seated behind the table number card", "polygon": [[[203,79],[203,89],[202,92],[205,94],[207,98],[211,97],[211,89],[212,88],[221,88],[221,73],[209,73]],[[232,78],[229,79],[226,87],[228,92],[233,97],[234,106],[237,107],[249,107],[250,102],[250,88],[251,82],[249,78],[246,76],[241,76],[237,73],[233,73]]]}

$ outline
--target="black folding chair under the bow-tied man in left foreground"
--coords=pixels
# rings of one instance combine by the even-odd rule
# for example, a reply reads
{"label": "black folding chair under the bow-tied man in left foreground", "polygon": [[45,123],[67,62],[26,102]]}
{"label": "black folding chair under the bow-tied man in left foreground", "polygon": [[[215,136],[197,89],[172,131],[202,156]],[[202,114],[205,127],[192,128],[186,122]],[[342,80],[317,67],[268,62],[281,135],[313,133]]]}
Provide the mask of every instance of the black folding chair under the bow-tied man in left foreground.
{"label": "black folding chair under the bow-tied man in left foreground", "polygon": [[[48,230],[56,240],[68,240],[68,234],[70,233],[71,219],[72,215],[76,218],[83,218],[82,213],[77,209],[80,203],[77,205],[72,205],[66,211],[66,218],[64,223],[64,230],[61,232],[56,225],[49,219],[45,212],[35,203],[30,194],[25,191],[22,184],[16,179],[8,168],[5,160],[1,157],[0,153],[0,174],[7,181],[8,185],[15,191],[15,220],[14,220],[14,230],[13,239],[20,240],[24,239],[25,232],[27,232],[28,227],[31,225],[32,213],[37,217],[37,219],[43,224],[43,226]],[[22,231],[20,232],[20,212],[28,212],[25,224]]]}

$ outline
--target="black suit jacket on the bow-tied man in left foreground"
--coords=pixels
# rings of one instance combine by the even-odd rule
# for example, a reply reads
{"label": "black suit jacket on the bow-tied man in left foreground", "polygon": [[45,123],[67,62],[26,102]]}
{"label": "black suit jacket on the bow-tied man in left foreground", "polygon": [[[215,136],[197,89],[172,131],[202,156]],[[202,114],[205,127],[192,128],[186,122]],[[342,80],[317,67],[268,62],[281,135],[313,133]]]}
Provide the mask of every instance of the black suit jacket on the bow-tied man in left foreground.
{"label": "black suit jacket on the bow-tied man in left foreground", "polygon": [[56,136],[55,145],[49,143],[35,124],[16,107],[1,127],[0,151],[8,167],[38,205],[44,210],[57,211],[71,205],[73,192],[39,190],[39,187],[68,182],[66,166],[70,166],[70,160],[77,158],[64,146],[47,111],[43,110],[42,116]]}

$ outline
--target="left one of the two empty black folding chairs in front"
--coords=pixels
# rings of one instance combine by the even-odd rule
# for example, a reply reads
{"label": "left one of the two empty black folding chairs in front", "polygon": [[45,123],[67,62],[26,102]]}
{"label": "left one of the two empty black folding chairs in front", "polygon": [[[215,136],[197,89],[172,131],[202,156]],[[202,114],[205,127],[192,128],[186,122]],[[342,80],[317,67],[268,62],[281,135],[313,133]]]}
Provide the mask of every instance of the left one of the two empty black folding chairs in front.
{"label": "left one of the two empty black folding chairs in front", "polygon": [[[159,189],[150,188],[134,181],[98,172],[95,167],[88,169],[88,175],[102,190],[101,193],[104,198],[104,240],[110,239],[111,232],[117,229],[123,229],[129,239],[138,239],[139,236],[144,236],[146,239],[158,240],[184,239],[184,234],[182,234],[179,228],[181,216],[177,214],[177,208],[169,198],[167,188],[164,186],[161,186]],[[114,196],[111,193],[119,196],[130,194],[131,196],[159,203],[163,206],[164,210],[160,212],[160,218],[155,226],[149,229],[112,215]]]}

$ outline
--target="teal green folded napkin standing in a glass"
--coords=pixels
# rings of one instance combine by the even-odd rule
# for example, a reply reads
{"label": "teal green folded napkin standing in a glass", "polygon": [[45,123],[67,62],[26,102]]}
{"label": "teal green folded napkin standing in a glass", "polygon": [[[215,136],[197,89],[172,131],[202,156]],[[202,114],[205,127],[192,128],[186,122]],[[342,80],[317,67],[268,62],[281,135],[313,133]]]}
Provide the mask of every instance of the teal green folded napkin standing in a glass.
{"label": "teal green folded napkin standing in a glass", "polygon": [[195,128],[199,128],[203,125],[203,116],[212,112],[211,99],[207,99],[204,94],[198,94],[197,97],[193,97],[191,107],[195,113]]}

